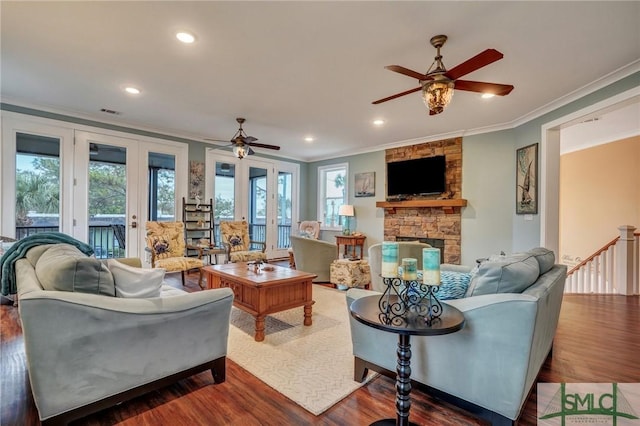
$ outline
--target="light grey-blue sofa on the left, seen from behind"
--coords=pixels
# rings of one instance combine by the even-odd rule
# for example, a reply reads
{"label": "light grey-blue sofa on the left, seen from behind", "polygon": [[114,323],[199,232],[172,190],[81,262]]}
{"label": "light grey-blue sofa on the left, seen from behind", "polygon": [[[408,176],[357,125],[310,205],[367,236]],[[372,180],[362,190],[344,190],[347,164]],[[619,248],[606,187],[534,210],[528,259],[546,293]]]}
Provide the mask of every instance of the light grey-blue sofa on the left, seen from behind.
{"label": "light grey-blue sofa on the left, seen from behind", "polygon": [[[112,292],[99,260],[49,256],[43,265],[46,252],[63,245],[34,247],[15,265],[27,369],[43,424],[66,424],[201,371],[225,381],[230,289],[186,293],[165,284],[159,297],[91,294],[89,287]],[[140,266],[139,259],[128,263]],[[74,290],[45,290],[39,278]]]}

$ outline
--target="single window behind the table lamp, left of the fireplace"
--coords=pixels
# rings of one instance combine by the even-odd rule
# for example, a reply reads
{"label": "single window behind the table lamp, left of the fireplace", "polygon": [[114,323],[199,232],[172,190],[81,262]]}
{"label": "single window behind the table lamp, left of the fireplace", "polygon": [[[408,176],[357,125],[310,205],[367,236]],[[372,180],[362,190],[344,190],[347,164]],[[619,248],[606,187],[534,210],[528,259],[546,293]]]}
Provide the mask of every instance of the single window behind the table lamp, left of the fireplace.
{"label": "single window behind the table lamp, left of the fireplace", "polygon": [[343,218],[340,206],[347,204],[349,165],[347,163],[318,167],[318,220],[325,229],[340,229]]}

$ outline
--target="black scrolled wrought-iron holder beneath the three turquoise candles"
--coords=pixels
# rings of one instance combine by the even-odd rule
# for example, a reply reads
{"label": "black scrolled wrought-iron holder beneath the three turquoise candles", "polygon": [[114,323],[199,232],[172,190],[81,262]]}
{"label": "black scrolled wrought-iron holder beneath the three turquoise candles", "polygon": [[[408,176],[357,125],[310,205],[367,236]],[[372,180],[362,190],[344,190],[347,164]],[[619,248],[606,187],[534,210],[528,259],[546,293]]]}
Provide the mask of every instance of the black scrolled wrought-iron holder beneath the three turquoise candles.
{"label": "black scrolled wrought-iron holder beneath the three turquoise candles", "polygon": [[383,282],[387,288],[378,300],[380,322],[401,326],[423,321],[431,326],[439,320],[442,315],[442,304],[436,296],[439,286],[399,277],[385,277]]}

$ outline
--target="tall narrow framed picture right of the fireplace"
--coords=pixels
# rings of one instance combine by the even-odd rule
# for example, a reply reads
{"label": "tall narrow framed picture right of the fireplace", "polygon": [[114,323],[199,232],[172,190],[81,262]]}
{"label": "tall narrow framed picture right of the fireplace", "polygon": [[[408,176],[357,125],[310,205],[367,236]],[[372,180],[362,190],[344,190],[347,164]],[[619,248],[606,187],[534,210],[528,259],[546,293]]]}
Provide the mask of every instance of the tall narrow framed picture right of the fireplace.
{"label": "tall narrow framed picture right of the fireplace", "polygon": [[538,213],[538,144],[516,151],[516,214]]}

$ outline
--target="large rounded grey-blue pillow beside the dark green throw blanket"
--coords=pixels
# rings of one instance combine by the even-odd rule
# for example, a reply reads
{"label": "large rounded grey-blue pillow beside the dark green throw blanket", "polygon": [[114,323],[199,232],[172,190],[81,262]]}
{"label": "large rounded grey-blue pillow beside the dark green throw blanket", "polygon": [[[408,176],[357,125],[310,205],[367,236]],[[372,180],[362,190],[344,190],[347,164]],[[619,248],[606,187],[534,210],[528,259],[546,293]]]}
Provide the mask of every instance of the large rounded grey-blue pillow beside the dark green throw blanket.
{"label": "large rounded grey-blue pillow beside the dark green throw blanket", "polygon": [[109,269],[70,244],[55,244],[42,253],[36,263],[36,276],[45,290],[115,296]]}

